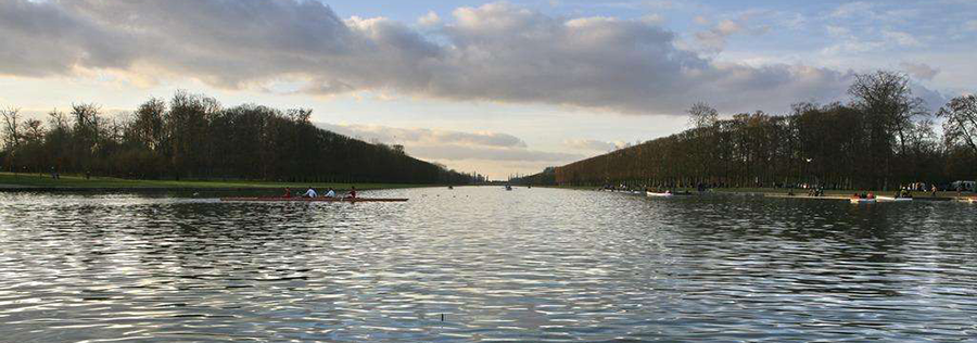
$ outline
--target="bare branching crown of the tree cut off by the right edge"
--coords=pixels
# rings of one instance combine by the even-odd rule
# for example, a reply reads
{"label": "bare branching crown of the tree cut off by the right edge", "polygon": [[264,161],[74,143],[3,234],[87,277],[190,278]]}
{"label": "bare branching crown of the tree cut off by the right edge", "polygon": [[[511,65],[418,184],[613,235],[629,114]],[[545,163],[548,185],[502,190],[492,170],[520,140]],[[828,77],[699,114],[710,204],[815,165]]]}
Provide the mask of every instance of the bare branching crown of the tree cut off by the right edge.
{"label": "bare branching crown of the tree cut off by the right edge", "polygon": [[948,145],[963,144],[977,154],[977,96],[953,98],[937,116],[946,119],[943,138]]}

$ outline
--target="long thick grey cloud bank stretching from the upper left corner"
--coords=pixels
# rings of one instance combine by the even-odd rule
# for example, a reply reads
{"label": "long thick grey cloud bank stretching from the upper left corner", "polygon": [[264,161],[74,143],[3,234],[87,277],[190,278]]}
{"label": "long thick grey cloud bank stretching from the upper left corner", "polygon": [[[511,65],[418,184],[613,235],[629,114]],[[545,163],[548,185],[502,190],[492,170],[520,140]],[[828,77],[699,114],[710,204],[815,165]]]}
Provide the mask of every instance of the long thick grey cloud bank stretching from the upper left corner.
{"label": "long thick grey cloud bank stretching from the upper left corner", "polygon": [[[680,114],[694,101],[724,112],[776,111],[835,99],[850,80],[829,68],[720,63],[680,48],[654,22],[488,3],[456,9],[429,35],[382,17],[340,18],[310,0],[4,0],[0,74],[113,71],[224,89],[287,81],[320,96],[370,91],[630,114]],[[720,46],[745,27],[724,21],[705,40]]]}

